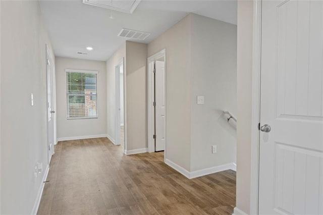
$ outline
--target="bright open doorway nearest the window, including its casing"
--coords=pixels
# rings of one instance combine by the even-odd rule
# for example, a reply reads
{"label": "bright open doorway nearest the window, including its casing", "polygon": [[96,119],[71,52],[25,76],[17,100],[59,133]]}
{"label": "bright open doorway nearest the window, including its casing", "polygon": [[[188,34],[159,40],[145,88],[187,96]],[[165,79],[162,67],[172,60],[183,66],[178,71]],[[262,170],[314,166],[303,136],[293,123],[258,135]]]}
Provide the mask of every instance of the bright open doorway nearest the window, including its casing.
{"label": "bright open doorway nearest the window, including its casing", "polygon": [[125,73],[124,59],[116,65],[116,145],[122,145],[126,150],[125,141]]}

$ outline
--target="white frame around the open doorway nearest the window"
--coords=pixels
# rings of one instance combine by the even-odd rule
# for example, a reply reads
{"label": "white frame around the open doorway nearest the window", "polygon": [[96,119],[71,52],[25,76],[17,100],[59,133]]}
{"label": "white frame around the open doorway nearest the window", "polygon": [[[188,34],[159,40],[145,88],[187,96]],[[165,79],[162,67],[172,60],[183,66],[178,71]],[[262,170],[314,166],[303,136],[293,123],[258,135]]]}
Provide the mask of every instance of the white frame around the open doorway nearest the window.
{"label": "white frame around the open doorway nearest the window", "polygon": [[126,70],[125,70],[125,64],[124,64],[124,58],[122,58],[119,62],[118,62],[118,64],[115,66],[115,77],[116,77],[116,103],[115,103],[115,105],[116,105],[116,142],[115,142],[115,144],[116,145],[120,145],[120,132],[121,132],[121,127],[120,127],[120,125],[121,125],[121,123],[120,123],[120,114],[118,114],[119,113],[119,108],[120,108],[120,70],[118,69],[120,66],[123,66],[122,68],[123,68],[123,94],[124,94],[124,96],[123,96],[123,98],[124,98],[124,109],[123,109],[123,111],[124,111],[124,150],[126,151],[126,149],[127,149],[127,141],[126,141],[126,127],[127,127],[127,121],[126,121],[126,79],[125,79],[125,77],[126,77]]}

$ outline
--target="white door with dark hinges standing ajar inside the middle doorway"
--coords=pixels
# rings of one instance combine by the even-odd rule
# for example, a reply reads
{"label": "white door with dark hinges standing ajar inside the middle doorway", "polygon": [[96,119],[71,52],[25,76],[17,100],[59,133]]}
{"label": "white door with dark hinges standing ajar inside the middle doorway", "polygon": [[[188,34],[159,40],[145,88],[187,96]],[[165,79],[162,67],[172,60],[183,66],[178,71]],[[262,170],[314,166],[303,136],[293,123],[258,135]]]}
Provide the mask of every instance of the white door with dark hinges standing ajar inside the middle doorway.
{"label": "white door with dark hinges standing ajar inside the middle doorway", "polygon": [[155,61],[155,151],[164,151],[166,142],[166,89],[164,57]]}

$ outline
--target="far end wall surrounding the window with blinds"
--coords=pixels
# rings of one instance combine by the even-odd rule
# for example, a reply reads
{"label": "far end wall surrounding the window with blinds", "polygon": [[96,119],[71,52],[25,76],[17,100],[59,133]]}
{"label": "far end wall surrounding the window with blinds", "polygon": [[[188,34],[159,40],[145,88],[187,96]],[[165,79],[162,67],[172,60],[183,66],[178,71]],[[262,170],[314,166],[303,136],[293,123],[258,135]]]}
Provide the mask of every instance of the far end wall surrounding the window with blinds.
{"label": "far end wall surrounding the window with blinds", "polygon": [[[67,120],[65,69],[94,70],[97,74],[98,118]],[[106,66],[103,61],[56,58],[57,136],[62,138],[102,135],[106,136]]]}

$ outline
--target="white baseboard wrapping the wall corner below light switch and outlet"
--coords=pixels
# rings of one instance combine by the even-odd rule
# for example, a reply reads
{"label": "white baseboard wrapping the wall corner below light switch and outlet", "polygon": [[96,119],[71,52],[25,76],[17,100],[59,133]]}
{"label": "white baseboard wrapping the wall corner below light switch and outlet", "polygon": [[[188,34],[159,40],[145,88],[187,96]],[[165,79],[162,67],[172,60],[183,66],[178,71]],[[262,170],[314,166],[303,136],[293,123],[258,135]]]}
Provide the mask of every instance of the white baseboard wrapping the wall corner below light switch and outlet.
{"label": "white baseboard wrapping the wall corner below light switch and outlet", "polygon": [[236,171],[236,165],[234,163],[229,163],[229,164],[225,164],[225,165],[220,165],[220,166],[216,166],[216,167],[210,167],[210,168],[205,168],[202,170],[197,170],[197,171],[193,171],[193,172],[189,172],[188,170],[184,169],[183,167],[175,164],[174,162],[172,162],[169,159],[165,160],[165,163],[170,166],[171,168],[173,168],[174,170],[176,170],[177,172],[179,172],[180,174],[182,174],[183,176],[185,176],[188,179],[193,179],[193,178],[197,178],[197,177],[201,177],[201,176],[206,176],[209,174],[213,174],[213,173],[218,173],[218,172],[222,172],[225,170],[234,170]]}

